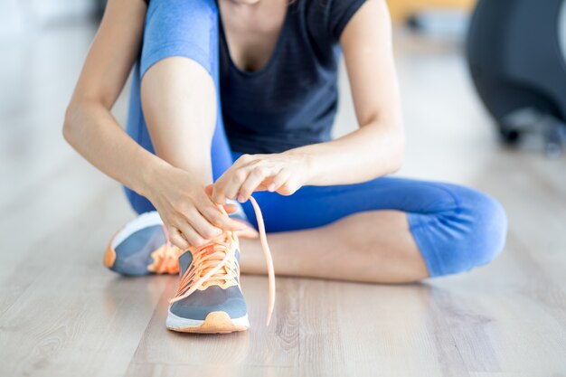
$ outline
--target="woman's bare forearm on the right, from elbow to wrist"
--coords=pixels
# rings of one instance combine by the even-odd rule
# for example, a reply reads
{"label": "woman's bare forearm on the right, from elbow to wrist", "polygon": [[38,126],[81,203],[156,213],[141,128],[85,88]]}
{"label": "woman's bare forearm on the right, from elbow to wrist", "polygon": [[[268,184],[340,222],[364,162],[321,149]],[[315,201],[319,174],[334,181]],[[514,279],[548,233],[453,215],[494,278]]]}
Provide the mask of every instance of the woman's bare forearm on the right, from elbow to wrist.
{"label": "woman's bare forearm on the right, from elbow to wrist", "polygon": [[307,185],[362,183],[399,170],[404,133],[402,127],[373,122],[333,141],[285,153],[305,158]]}

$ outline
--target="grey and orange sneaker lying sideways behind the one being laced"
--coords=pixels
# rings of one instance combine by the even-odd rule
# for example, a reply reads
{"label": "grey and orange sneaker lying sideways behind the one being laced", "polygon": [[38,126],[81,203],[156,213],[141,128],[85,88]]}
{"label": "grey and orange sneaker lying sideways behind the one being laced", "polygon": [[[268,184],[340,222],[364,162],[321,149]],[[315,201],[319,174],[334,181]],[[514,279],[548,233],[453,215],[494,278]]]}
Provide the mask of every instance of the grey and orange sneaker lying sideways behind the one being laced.
{"label": "grey and orange sneaker lying sideways behind the one being laced", "polygon": [[177,274],[181,253],[167,240],[159,213],[146,212],[112,237],[104,254],[104,265],[127,276]]}

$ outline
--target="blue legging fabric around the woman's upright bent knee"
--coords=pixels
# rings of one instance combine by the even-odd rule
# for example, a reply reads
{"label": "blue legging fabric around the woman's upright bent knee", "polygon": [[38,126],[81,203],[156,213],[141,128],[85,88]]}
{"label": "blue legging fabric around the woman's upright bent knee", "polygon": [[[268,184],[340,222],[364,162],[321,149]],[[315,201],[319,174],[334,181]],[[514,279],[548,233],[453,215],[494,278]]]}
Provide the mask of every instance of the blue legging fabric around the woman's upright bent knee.
{"label": "blue legging fabric around the woman's upright bent knee", "polygon": [[[198,62],[212,76],[217,93],[217,117],[212,137],[212,175],[218,178],[231,164],[231,151],[222,124],[219,85],[218,8],[214,0],[152,0],[146,14],[144,42],[132,77],[127,116],[127,133],[151,153],[154,147],[147,131],[140,99],[146,71],[159,61],[184,57]],[[179,106],[183,106],[179,104]],[[189,125],[198,127],[198,125]],[[180,143],[182,140],[171,140]],[[127,199],[137,212],[153,211],[143,196],[126,189]]]}

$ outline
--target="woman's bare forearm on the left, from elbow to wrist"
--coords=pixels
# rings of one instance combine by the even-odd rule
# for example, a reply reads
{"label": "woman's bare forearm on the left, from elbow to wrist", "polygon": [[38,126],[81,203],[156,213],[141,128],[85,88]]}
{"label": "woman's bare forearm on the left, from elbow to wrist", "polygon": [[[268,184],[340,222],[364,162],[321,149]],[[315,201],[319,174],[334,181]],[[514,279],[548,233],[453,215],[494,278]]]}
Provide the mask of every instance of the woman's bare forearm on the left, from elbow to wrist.
{"label": "woman's bare forearm on the left, from elbow to wrist", "polygon": [[138,146],[108,108],[94,100],[71,101],[63,135],[90,164],[141,195],[147,194],[152,174],[168,165]]}

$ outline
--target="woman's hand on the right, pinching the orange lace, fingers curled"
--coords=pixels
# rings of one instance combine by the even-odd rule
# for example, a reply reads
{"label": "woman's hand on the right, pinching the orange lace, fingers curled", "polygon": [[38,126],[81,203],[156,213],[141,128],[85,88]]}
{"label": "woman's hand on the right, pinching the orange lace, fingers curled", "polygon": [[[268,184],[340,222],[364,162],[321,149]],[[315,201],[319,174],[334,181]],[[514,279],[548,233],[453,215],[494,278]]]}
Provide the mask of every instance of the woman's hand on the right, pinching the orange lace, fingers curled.
{"label": "woman's hand on the right, pinching the orange lace, fingers curled", "polygon": [[214,184],[212,201],[224,204],[226,199],[236,199],[244,203],[256,191],[290,195],[307,183],[308,172],[304,155],[242,155]]}

